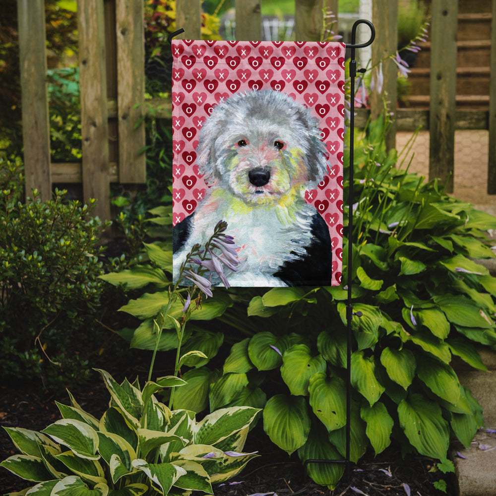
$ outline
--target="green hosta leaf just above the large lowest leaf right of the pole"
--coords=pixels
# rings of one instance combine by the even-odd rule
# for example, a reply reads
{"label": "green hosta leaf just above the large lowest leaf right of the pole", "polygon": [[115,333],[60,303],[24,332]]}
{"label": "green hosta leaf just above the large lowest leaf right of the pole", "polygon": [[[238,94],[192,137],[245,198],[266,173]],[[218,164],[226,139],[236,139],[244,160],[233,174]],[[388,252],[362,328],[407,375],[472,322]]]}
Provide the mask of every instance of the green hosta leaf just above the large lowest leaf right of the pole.
{"label": "green hosta leaf just above the large lowest leaf right of the pole", "polygon": [[458,402],[460,383],[449,365],[424,356],[422,360],[417,360],[417,375],[443,400],[453,404]]}

